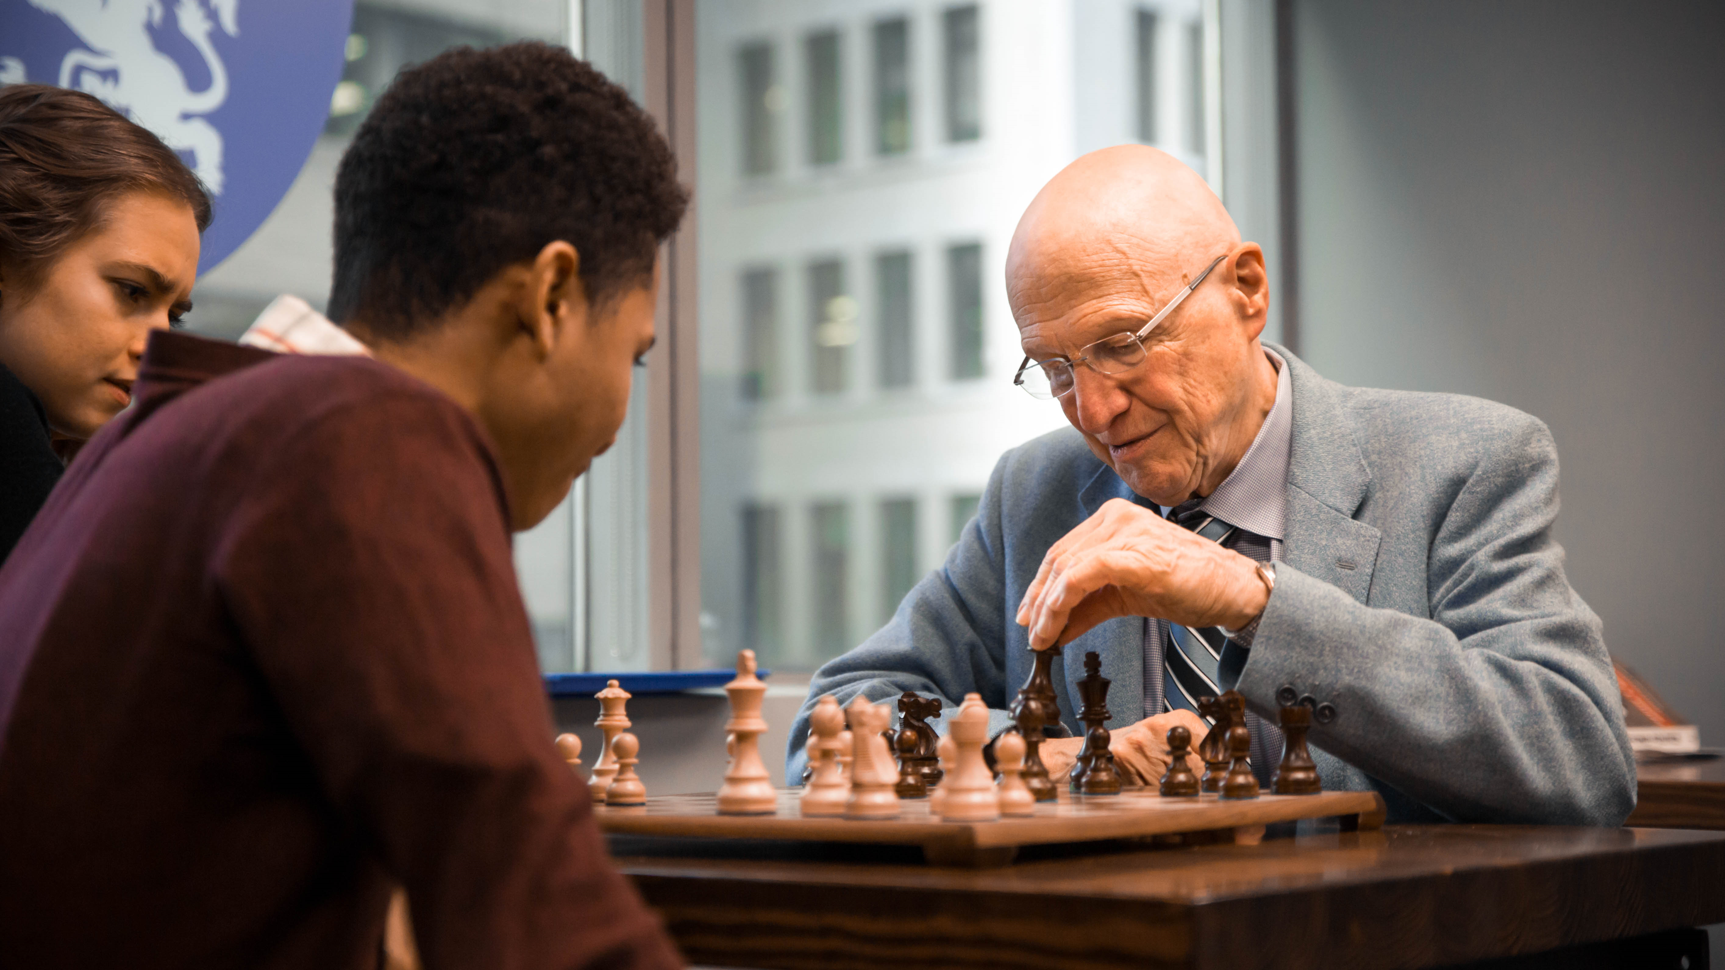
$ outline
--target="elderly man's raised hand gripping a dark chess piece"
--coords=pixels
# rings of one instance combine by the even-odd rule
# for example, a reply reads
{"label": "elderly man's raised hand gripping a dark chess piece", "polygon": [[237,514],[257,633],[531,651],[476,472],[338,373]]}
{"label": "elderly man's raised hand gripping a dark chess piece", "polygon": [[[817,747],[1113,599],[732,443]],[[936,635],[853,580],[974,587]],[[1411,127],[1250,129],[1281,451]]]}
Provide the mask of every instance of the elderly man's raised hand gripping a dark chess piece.
{"label": "elderly man's raised hand gripping a dark chess piece", "polygon": [[1161,616],[1240,628],[1264,611],[1258,564],[1125,499],[1109,499],[1042,557],[1018,604],[1032,649],[1066,644],[1104,620]]}

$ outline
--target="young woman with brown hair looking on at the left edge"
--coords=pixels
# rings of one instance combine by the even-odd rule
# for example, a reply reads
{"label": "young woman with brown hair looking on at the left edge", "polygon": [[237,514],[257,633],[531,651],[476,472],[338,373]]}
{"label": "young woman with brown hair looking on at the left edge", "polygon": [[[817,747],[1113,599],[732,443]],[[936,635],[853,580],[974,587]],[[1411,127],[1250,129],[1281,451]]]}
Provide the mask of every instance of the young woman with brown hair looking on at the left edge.
{"label": "young woman with brown hair looking on at the left edge", "polygon": [[81,442],[131,404],[150,330],[191,309],[210,200],[90,95],[0,88],[0,561]]}

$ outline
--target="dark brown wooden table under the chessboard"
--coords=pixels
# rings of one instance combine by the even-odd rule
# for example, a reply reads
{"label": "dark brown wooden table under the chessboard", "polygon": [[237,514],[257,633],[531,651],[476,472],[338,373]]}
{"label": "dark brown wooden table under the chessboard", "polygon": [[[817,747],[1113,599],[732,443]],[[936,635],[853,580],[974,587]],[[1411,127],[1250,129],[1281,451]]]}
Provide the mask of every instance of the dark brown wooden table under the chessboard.
{"label": "dark brown wooden table under the chessboard", "polygon": [[842,844],[612,851],[687,956],[721,967],[1442,967],[1725,922],[1725,832],[1313,828],[1004,870]]}

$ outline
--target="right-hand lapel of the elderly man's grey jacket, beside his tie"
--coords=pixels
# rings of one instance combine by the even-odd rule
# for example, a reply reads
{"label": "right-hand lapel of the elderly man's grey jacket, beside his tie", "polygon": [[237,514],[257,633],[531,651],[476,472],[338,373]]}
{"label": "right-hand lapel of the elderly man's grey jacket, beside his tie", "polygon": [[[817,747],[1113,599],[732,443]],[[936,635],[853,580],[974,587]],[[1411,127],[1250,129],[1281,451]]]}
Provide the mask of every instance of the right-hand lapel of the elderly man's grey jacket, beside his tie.
{"label": "right-hand lapel of the elderly man's grey jacket, beside his tie", "polygon": [[1371,487],[1371,469],[1354,440],[1337,385],[1285,349],[1273,349],[1289,362],[1294,381],[1283,557],[1308,576],[1366,602],[1382,533],[1354,521],[1354,513]]}

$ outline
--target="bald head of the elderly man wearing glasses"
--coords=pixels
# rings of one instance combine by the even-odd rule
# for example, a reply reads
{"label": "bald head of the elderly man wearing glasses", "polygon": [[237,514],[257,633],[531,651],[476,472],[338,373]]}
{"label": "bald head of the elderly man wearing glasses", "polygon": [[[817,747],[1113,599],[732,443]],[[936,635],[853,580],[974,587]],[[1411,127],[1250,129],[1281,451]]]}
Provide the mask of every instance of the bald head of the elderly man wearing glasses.
{"label": "bald head of the elderly man wearing glasses", "polygon": [[1070,375],[1059,381],[1066,419],[1159,504],[1214,490],[1275,402],[1276,373],[1258,343],[1264,254],[1166,152],[1120,145],[1054,176],[1013,233],[1006,292],[1025,356]]}

